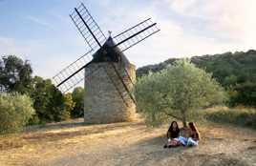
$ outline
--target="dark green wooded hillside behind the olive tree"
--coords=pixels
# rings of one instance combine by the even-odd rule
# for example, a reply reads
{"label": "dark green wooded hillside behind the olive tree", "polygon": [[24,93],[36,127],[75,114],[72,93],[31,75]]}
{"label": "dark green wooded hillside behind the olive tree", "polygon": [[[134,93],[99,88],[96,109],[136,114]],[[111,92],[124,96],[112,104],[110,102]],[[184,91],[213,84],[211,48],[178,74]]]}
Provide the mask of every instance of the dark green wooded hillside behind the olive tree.
{"label": "dark green wooded hillside behind the olive tree", "polygon": [[[178,58],[170,58],[160,64],[141,67],[137,76],[150,71],[159,72],[176,60]],[[230,93],[233,104],[256,106],[256,51],[193,56],[191,62],[207,73],[213,73],[213,77]]]}

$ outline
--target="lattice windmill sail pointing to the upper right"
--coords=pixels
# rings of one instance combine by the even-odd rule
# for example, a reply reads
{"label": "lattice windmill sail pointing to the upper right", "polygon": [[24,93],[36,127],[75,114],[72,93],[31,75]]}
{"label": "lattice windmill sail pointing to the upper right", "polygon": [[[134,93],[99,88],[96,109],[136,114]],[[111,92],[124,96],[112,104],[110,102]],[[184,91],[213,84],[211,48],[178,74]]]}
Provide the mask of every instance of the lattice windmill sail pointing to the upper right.
{"label": "lattice windmill sail pointing to the upper right", "polygon": [[153,23],[151,18],[148,18],[138,25],[117,34],[113,39],[117,43],[116,47],[120,48],[121,52],[125,52],[158,31],[160,29],[158,29],[157,23]]}

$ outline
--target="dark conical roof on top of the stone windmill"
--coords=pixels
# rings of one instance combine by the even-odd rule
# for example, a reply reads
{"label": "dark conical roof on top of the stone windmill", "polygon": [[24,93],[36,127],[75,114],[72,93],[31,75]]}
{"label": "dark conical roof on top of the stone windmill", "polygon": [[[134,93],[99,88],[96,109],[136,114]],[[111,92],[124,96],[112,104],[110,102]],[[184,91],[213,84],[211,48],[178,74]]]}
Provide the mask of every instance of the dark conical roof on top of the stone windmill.
{"label": "dark conical roof on top of the stone windmill", "polygon": [[122,62],[124,64],[130,64],[129,60],[126,58],[123,52],[120,51],[118,47],[114,47],[116,43],[110,36],[103,46],[93,55],[94,58],[91,63],[100,62]]}

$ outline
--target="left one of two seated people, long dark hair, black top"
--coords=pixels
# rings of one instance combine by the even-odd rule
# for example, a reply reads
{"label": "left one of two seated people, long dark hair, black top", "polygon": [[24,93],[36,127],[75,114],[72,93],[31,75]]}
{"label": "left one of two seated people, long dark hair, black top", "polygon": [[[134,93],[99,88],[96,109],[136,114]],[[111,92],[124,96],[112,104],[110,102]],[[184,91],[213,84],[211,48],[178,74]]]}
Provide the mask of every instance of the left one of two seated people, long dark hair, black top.
{"label": "left one of two seated people, long dark hair, black top", "polygon": [[179,136],[180,136],[180,128],[178,126],[178,123],[177,123],[177,121],[173,121],[171,123],[171,126],[169,127],[169,129],[167,131],[168,142],[163,147],[164,148],[167,148],[167,147],[171,148],[171,147],[181,145],[180,142],[179,142],[179,139],[178,139]]}

